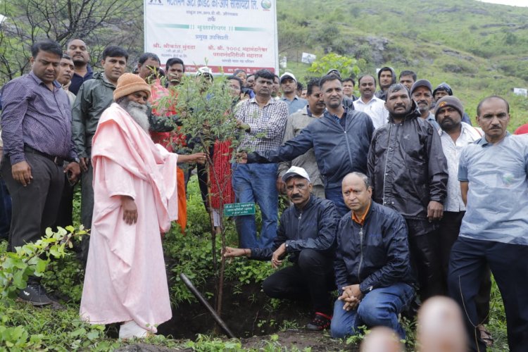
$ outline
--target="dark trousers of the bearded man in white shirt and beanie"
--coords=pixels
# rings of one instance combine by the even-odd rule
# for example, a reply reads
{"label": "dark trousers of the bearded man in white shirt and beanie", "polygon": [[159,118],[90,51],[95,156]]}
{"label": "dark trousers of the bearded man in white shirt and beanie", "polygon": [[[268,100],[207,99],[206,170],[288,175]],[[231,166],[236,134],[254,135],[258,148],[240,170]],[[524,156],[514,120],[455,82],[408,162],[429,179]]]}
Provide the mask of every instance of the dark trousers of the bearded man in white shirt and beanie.
{"label": "dark trousers of the bearded man in white shirt and beanie", "polygon": [[[460,233],[460,225],[462,225],[462,218],[465,211],[453,212],[444,211],[444,216],[440,221],[438,230],[440,260],[442,270],[442,294],[448,295],[447,275],[449,268],[449,256],[451,255],[451,247],[458,239]],[[487,323],[489,321],[489,295],[491,294],[491,271],[486,265],[484,278],[480,283],[479,293],[475,297],[477,303],[477,317],[478,321]]]}

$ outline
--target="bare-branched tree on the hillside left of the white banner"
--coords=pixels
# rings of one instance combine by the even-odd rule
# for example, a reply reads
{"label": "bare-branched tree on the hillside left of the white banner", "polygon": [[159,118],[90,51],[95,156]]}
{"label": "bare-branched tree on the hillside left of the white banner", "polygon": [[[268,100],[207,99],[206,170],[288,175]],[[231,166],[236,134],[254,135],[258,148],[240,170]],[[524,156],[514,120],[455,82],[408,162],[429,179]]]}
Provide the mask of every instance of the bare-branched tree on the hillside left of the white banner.
{"label": "bare-branched tree on the hillside left of the white banner", "polygon": [[73,38],[89,46],[92,63],[108,44],[131,54],[142,50],[141,0],[2,1],[0,13],[0,84],[29,70],[31,45],[53,39],[65,46]]}

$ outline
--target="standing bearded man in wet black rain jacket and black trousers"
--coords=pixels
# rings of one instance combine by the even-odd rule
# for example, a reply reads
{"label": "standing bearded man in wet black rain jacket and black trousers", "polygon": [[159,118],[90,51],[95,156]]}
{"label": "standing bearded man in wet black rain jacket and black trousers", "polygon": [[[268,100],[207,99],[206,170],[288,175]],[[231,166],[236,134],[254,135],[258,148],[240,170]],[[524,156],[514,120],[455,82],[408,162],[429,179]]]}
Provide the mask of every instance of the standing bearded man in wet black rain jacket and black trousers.
{"label": "standing bearded man in wet black rain jacket and black trousers", "polygon": [[406,219],[423,301],[442,292],[436,229],[447,193],[447,161],[438,132],[420,118],[408,89],[398,83],[386,93],[389,123],[374,132],[368,153],[372,198]]}

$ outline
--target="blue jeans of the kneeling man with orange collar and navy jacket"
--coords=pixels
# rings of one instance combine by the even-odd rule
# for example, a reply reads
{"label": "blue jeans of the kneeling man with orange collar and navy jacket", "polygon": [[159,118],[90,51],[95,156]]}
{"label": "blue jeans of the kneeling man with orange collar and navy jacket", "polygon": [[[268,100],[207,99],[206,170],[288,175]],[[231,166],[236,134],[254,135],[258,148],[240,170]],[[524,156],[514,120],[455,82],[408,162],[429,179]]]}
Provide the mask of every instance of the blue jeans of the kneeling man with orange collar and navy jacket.
{"label": "blue jeans of the kneeling man with orange collar and navy jacket", "polygon": [[390,327],[405,339],[406,333],[398,322],[398,314],[415,296],[413,287],[398,282],[389,287],[379,287],[365,294],[357,309],[344,310],[344,302],[337,300],[330,333],[334,338],[357,334],[358,327]]}

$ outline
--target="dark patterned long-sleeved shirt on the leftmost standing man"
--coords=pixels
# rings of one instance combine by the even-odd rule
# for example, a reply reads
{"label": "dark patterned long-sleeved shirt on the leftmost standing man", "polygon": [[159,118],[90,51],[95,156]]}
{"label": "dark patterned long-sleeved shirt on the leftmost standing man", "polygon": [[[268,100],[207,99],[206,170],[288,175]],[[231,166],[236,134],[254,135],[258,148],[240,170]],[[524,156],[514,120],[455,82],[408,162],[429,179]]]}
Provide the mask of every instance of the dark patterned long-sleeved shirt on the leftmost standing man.
{"label": "dark patterned long-sleeved shirt on the leftmost standing man", "polygon": [[77,157],[70,101],[61,84],[54,81],[52,92],[31,72],[4,85],[1,95],[4,154],[11,165],[25,161],[25,144],[50,156]]}

